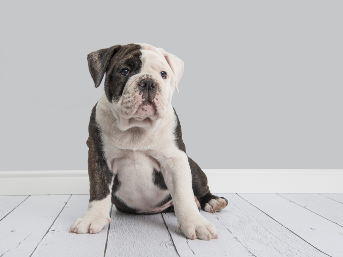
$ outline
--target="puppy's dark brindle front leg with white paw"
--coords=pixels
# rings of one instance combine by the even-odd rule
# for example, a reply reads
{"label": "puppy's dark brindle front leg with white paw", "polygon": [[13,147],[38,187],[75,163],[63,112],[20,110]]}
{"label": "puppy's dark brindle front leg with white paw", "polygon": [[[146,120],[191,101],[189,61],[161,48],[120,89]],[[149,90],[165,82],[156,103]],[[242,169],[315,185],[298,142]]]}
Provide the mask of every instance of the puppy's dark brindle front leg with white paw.
{"label": "puppy's dark brindle front leg with white paw", "polygon": [[97,156],[97,152],[91,147],[88,151],[88,175],[90,180],[88,209],[82,217],[75,220],[69,232],[98,233],[111,221],[109,211],[112,205],[111,191],[114,176],[106,160]]}

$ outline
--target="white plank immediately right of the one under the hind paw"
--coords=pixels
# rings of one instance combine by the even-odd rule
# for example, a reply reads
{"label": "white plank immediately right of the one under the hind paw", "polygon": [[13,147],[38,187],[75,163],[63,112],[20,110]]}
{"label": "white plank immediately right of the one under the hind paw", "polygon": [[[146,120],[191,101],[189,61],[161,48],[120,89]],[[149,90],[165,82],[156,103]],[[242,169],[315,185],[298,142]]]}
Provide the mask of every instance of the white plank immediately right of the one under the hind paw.
{"label": "white plank immediately right of the one under the hind paw", "polygon": [[343,228],[277,194],[239,194],[323,253],[343,256]]}

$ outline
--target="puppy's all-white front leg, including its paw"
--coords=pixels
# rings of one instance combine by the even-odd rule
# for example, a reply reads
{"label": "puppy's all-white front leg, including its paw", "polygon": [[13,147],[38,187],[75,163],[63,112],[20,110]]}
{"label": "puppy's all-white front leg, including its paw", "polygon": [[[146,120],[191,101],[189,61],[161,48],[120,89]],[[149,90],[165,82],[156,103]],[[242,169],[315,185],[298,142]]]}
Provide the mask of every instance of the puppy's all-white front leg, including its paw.
{"label": "puppy's all-white front leg, including its paw", "polygon": [[171,157],[164,157],[158,161],[164,181],[173,198],[178,229],[180,228],[190,239],[218,238],[215,226],[199,213],[194,201],[192,175],[186,153],[175,151]]}

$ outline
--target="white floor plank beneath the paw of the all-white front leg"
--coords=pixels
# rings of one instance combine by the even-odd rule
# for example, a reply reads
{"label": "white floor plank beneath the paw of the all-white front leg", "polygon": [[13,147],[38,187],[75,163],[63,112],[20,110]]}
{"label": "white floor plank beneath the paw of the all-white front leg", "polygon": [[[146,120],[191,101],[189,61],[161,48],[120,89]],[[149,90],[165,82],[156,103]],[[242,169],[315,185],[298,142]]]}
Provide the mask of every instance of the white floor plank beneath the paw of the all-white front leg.
{"label": "white floor plank beneath the paw of the all-white front leg", "polygon": [[[226,210],[223,210],[225,216]],[[252,254],[223,226],[216,213],[201,211],[201,214],[212,222],[219,233],[218,239],[209,241],[190,240],[177,229],[177,218],[174,213],[163,213],[173,242],[179,256],[252,256]]]}

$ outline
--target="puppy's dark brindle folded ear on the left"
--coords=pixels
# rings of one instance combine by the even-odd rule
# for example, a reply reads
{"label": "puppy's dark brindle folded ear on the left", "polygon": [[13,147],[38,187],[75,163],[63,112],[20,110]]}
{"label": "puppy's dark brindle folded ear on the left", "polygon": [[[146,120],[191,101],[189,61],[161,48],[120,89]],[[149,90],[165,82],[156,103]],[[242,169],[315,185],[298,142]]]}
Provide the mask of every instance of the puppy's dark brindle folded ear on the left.
{"label": "puppy's dark brindle folded ear on the left", "polygon": [[94,80],[95,87],[98,87],[103,80],[107,65],[111,57],[116,54],[121,45],[115,45],[109,48],[100,49],[88,53],[88,68]]}

